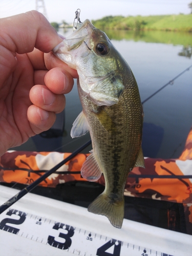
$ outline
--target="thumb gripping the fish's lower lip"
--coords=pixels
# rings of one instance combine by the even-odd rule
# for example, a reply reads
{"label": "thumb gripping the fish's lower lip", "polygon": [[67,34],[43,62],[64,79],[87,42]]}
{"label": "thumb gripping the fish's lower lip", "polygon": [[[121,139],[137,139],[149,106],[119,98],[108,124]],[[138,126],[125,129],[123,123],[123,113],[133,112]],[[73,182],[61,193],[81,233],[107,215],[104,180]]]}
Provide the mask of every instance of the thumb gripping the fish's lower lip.
{"label": "thumb gripping the fish's lower lip", "polygon": [[30,11],[0,19],[0,45],[19,54],[33,51],[50,52],[62,39],[46,17]]}

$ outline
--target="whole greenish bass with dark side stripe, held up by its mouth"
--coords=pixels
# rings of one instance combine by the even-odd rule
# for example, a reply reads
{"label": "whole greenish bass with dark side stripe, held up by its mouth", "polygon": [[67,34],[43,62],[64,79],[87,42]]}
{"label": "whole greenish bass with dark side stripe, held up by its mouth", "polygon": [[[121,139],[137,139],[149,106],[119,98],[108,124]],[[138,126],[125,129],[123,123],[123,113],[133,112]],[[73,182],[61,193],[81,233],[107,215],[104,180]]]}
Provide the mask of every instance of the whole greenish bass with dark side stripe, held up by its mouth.
{"label": "whole greenish bass with dark side stripe, held up by its mouth", "polygon": [[71,136],[90,132],[93,150],[81,175],[96,181],[104,175],[105,188],[88,207],[104,215],[114,227],[124,218],[124,186],[134,166],[144,167],[141,148],[143,109],[136,79],[108,36],[89,19],[53,49],[76,69],[82,112],[73,123]]}

